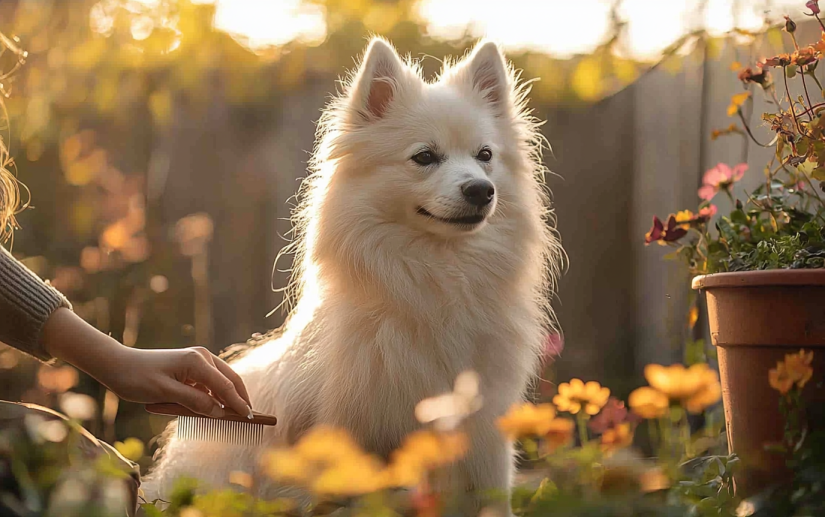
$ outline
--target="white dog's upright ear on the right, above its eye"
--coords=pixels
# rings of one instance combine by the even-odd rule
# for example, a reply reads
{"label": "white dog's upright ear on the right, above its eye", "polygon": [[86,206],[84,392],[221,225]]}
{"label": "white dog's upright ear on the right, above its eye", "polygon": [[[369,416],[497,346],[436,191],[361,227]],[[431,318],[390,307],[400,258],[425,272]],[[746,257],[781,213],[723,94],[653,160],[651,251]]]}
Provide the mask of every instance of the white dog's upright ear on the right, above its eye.
{"label": "white dog's upright ear on the right, above its eye", "polygon": [[507,112],[512,86],[504,56],[495,43],[480,42],[461,65],[458,77],[489,102],[497,114]]}

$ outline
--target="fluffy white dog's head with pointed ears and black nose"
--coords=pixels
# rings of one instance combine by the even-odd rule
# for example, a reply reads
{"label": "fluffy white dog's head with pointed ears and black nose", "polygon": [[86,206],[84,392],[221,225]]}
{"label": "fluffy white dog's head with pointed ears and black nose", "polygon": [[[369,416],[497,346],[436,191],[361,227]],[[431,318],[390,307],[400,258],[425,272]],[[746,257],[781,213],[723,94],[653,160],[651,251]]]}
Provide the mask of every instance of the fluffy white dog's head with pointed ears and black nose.
{"label": "fluffy white dog's head with pointed ears and black nose", "polygon": [[524,174],[518,100],[492,42],[427,83],[373,39],[339,102],[328,157],[347,160],[338,171],[346,178],[333,181],[347,183],[334,190],[349,197],[350,211],[357,204],[382,223],[456,237],[480,231],[511,202],[513,176]]}

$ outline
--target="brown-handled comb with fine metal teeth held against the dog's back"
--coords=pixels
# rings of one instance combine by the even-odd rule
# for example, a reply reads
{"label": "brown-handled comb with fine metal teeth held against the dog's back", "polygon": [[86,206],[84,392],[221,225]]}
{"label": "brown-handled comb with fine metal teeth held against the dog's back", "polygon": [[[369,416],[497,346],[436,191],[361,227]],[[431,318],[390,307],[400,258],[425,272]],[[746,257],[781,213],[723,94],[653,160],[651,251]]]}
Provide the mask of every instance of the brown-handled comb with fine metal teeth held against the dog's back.
{"label": "brown-handled comb with fine metal teeth held against the dog's back", "polygon": [[224,409],[221,418],[203,416],[179,404],[147,404],[146,411],[155,415],[178,417],[178,438],[209,442],[261,445],[264,429],[278,422],[272,415],[252,412],[252,418]]}

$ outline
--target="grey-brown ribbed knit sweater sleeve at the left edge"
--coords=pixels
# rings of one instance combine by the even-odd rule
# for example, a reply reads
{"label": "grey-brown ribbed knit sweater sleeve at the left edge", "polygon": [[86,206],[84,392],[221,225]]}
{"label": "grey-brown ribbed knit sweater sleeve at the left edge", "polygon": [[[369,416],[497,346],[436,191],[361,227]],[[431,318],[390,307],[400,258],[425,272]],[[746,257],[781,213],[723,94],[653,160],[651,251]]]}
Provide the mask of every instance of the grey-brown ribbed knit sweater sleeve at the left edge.
{"label": "grey-brown ribbed knit sweater sleeve at the left edge", "polygon": [[71,309],[57,289],[0,246],[0,342],[42,361],[52,359],[40,342],[40,334],[59,307]]}

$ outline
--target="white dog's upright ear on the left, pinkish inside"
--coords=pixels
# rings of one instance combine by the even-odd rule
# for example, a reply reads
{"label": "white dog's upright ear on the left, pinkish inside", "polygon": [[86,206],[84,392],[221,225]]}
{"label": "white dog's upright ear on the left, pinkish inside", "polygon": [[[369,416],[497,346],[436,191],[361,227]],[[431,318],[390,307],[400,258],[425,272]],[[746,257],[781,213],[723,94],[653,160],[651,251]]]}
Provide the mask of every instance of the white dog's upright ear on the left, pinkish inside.
{"label": "white dog's upright ear on the left, pinkish inside", "polygon": [[373,38],[364,53],[349,93],[350,106],[361,122],[384,117],[398,92],[404,63],[392,46],[381,38]]}

